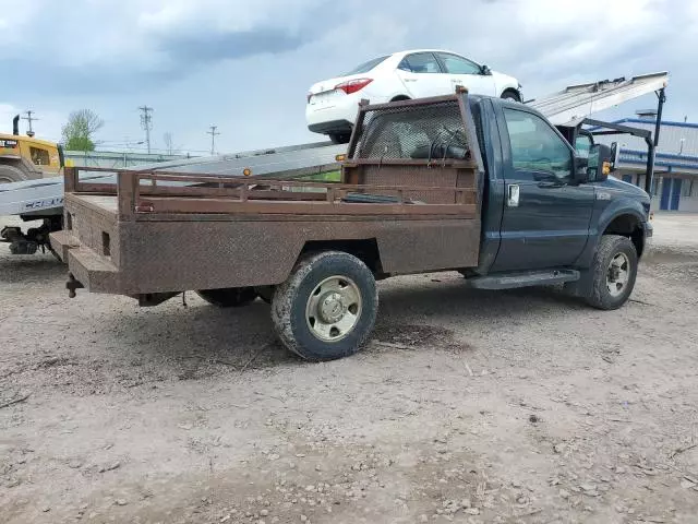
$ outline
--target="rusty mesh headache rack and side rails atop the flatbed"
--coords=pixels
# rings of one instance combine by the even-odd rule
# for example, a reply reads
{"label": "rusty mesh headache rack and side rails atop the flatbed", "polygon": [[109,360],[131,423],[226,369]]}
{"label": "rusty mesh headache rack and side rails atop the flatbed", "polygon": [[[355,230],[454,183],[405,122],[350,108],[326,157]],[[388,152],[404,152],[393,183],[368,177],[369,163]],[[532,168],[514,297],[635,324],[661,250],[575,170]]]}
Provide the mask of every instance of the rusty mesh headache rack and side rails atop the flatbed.
{"label": "rusty mesh headache rack and side rails atop the flatbed", "polygon": [[[65,192],[121,221],[169,214],[478,216],[482,159],[467,93],[359,107],[341,181],[67,168]],[[342,158],[340,158],[342,159]],[[81,172],[112,181],[81,181]]]}

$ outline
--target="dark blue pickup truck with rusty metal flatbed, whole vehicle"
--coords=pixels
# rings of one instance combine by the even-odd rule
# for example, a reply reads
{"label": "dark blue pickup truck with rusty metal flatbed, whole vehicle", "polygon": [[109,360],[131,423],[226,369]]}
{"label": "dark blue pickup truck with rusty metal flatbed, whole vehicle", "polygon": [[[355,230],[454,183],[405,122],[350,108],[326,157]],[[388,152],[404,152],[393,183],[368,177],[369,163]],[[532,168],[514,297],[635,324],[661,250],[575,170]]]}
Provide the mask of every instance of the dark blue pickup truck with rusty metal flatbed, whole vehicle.
{"label": "dark blue pickup truck with rusty metal flatbed, whole vehicle", "polygon": [[[571,144],[576,144],[575,148]],[[456,94],[359,107],[340,182],[65,169],[51,246],[77,288],[155,306],[185,290],[270,302],[309,360],[351,355],[376,281],[458,271],[476,288],[563,284],[603,310],[633,291],[650,199],[609,178],[612,147],[524,104]],[[91,169],[94,170],[94,169]]]}

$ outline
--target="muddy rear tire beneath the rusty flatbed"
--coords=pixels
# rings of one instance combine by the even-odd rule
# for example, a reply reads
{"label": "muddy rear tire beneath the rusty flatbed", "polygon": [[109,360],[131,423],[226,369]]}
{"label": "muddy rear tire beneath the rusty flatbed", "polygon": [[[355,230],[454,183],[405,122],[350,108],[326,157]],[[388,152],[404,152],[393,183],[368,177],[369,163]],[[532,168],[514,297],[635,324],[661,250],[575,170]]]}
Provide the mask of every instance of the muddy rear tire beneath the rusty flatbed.
{"label": "muddy rear tire beneath the rusty flatbed", "polygon": [[[335,322],[345,325],[346,315],[352,324],[346,333],[338,331],[339,334],[334,335],[337,340],[322,340],[315,331],[315,313],[311,311],[313,303],[318,305],[317,308],[321,302],[328,303],[323,297],[333,299],[335,281],[339,294],[340,312],[337,314],[342,317]],[[342,281],[351,289],[346,299],[341,295]],[[323,290],[324,283],[330,283],[329,290]],[[371,270],[358,258],[341,251],[324,251],[301,259],[288,279],[276,287],[272,300],[272,321],[280,341],[291,352],[313,361],[334,360],[357,353],[368,341],[377,311],[378,294]],[[329,325],[332,320],[322,319],[320,323],[324,322]],[[332,338],[332,331],[327,336]]]}

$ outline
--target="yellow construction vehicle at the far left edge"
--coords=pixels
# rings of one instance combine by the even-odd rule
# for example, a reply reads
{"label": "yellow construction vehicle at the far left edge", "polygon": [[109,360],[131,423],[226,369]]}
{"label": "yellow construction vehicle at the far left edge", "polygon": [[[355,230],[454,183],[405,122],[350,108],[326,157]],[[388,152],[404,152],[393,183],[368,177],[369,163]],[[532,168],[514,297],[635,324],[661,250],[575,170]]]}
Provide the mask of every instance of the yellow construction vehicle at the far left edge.
{"label": "yellow construction vehicle at the far left edge", "polygon": [[64,160],[60,145],[20,135],[20,116],[12,120],[12,134],[0,133],[0,183],[62,175]]}

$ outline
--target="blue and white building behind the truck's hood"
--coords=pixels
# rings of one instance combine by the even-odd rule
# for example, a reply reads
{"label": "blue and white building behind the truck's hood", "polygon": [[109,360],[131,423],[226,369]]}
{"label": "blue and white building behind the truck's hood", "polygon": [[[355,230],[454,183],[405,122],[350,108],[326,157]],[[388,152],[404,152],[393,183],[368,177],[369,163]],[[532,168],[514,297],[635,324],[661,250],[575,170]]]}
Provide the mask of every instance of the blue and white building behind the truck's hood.
{"label": "blue and white building behind the truck's hood", "polygon": [[[638,118],[616,123],[654,132],[657,114],[638,111]],[[601,143],[618,143],[618,162],[614,176],[645,188],[647,144],[627,134],[598,136]],[[662,121],[654,158],[652,210],[698,213],[698,123]]]}

